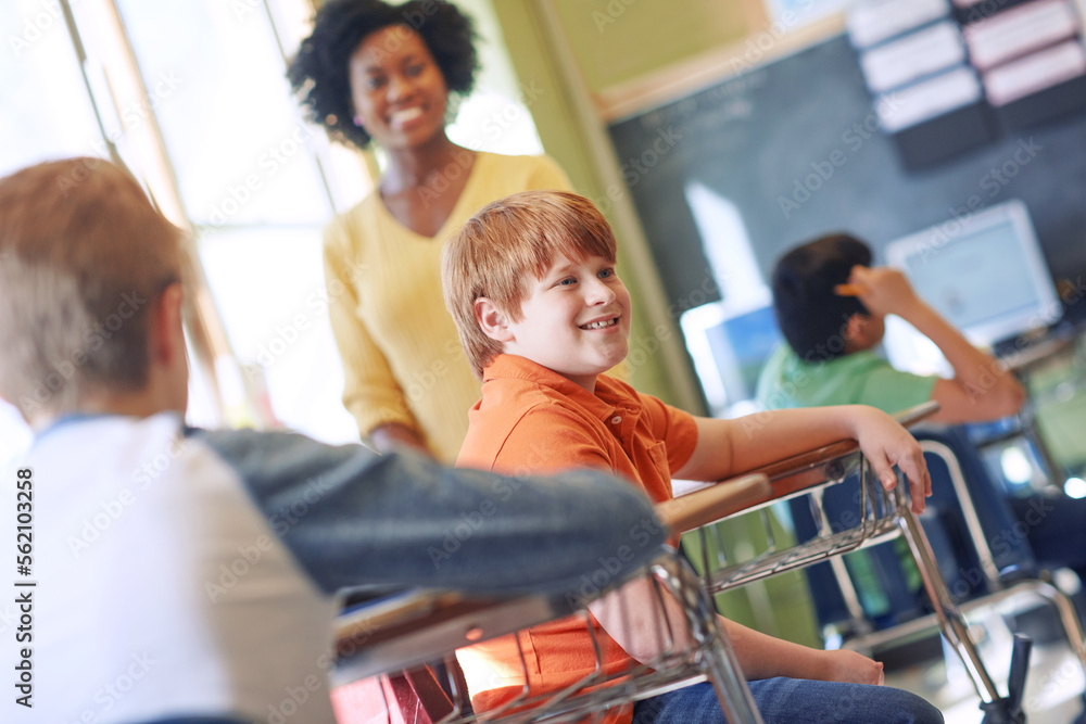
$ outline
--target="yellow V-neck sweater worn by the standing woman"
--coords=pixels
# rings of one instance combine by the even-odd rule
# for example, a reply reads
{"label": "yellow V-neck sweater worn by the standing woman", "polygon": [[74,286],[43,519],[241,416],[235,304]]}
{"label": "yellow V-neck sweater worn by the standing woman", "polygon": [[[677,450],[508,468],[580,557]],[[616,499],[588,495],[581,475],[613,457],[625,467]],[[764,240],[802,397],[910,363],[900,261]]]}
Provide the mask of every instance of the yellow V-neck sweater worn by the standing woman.
{"label": "yellow V-neck sweater worn by the standing woman", "polygon": [[325,232],[332,331],[343,359],[343,405],[366,436],[399,422],[452,463],[480,397],[441,295],[441,250],[471,216],[530,189],[569,190],[546,156],[480,152],[453,213],[437,234],[404,227],[374,192]]}

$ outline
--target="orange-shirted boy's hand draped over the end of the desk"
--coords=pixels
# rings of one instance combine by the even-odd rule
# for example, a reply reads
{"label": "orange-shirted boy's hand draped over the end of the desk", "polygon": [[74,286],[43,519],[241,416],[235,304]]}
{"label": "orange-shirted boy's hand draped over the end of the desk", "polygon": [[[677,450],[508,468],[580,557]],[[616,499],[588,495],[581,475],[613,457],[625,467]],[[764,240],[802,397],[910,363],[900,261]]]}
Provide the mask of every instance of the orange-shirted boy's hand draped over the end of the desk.
{"label": "orange-shirted boy's hand draped over the end of the desk", "polygon": [[915,437],[897,420],[874,407],[857,405],[853,424],[854,436],[883,487],[892,491],[897,485],[896,465],[909,479],[912,511],[923,512],[924,498],[932,494],[932,478]]}

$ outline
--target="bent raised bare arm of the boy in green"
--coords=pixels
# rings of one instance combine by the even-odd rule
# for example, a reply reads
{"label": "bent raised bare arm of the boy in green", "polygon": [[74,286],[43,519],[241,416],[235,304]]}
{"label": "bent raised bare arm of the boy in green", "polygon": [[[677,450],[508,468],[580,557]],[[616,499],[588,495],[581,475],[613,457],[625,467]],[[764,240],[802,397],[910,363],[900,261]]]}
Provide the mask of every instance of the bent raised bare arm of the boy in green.
{"label": "bent raised bare arm of the boy in green", "polygon": [[853,269],[849,283],[858,299],[876,315],[894,314],[917,328],[939,348],[954,369],[954,379],[939,380],[932,399],[940,422],[992,420],[1013,415],[1025,402],[1021,383],[990,355],[977,350],[935,309],[917,296],[909,280],[889,267]]}

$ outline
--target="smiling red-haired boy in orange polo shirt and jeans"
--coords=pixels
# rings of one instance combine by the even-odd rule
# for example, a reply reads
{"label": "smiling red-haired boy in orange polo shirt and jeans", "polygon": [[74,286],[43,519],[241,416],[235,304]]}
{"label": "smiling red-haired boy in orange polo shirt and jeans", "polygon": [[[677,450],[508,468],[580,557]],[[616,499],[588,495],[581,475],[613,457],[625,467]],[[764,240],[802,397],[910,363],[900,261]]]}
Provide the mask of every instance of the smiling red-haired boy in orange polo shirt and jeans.
{"label": "smiling red-haired boy in orange polo shirt and jeans", "polygon": [[[603,374],[628,351],[630,294],[615,272],[615,237],[590,201],[529,191],[494,202],[445,247],[445,304],[460,343],[483,380],[482,399],[457,465],[527,473],[599,468],[671,497],[671,478],[717,481],[788,455],[855,437],[884,485],[908,477],[920,512],[931,482],[912,436],[874,408],[846,406],[762,414],[755,424],[697,418]],[[637,536],[631,531],[631,547]],[[648,615],[652,604],[629,595]],[[649,660],[655,636],[593,607],[605,665]],[[942,722],[911,694],[875,686],[882,664],[853,651],[821,651],[721,619],[766,722]],[[519,634],[536,691],[557,690],[590,673],[593,646],[582,620]],[[492,709],[523,685],[512,636],[460,652],[477,710]],[[608,722],[723,722],[712,687],[699,684],[610,712]]]}

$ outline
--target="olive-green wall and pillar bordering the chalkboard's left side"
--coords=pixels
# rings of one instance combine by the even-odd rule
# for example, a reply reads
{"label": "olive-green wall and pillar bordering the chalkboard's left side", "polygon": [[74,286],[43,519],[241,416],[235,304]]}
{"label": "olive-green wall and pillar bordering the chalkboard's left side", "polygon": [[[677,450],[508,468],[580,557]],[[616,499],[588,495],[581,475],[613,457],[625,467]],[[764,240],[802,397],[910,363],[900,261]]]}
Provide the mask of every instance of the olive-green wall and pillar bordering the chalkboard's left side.
{"label": "olive-green wall and pillar bordering the chalkboard's left side", "polygon": [[[721,11],[677,11],[720,3],[626,2],[631,4],[611,0],[614,17],[608,15],[608,20],[615,23],[594,17],[593,13],[607,12],[607,3],[599,0],[493,0],[493,7],[521,86],[539,91],[530,110],[546,152],[566,169],[574,188],[601,206],[615,228],[619,274],[634,299],[630,356],[634,385],[683,409],[704,414],[700,390],[678,334],[678,320],[666,315],[667,299],[593,103],[595,90],[586,78],[591,74],[597,84],[624,80],[690,55],[697,48],[690,42],[690,29],[710,25],[707,18],[719,18]],[[603,31],[596,29],[597,22]],[[666,27],[670,35],[643,33],[653,27]],[[708,46],[728,35],[718,26],[699,33],[697,41]],[[603,59],[609,60],[605,63]]]}

